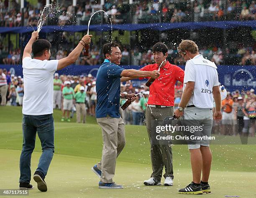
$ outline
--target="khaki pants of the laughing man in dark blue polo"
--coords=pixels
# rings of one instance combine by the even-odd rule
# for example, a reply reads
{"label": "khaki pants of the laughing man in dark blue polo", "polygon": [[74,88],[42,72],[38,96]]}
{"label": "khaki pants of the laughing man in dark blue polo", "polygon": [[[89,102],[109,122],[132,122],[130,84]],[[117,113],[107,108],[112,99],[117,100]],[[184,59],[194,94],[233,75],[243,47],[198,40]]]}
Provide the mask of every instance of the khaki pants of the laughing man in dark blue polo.
{"label": "khaki pants of the laughing man in dark blue polo", "polygon": [[125,124],[121,117],[113,118],[109,115],[97,118],[97,123],[102,128],[103,136],[102,159],[97,164],[102,172],[100,180],[103,183],[113,183],[116,158],[125,146]]}

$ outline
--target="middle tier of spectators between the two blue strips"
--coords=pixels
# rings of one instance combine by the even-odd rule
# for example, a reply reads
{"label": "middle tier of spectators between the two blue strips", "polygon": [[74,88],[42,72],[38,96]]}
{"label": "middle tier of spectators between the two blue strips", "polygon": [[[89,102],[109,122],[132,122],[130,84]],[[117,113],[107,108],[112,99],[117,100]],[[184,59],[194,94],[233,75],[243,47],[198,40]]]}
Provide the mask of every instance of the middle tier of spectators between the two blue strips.
{"label": "middle tier of spectators between the two blue strips", "polygon": [[[83,53],[80,54],[79,58],[76,61],[77,65],[98,65],[102,62],[100,56],[100,51],[97,49],[99,46],[94,46],[89,53],[88,57],[83,56]],[[51,48],[51,58],[59,60],[65,58],[72,51],[72,48],[68,51],[64,47],[57,50],[56,48]],[[236,62],[236,65],[255,65],[256,64],[256,53],[255,46],[244,47],[238,46],[236,49],[232,49],[233,53],[230,52],[229,48],[226,48],[225,51],[218,47],[207,48],[202,47],[200,54],[205,58],[215,62],[216,65],[233,65]],[[13,49],[8,53],[8,49],[4,48],[0,43],[0,64],[16,65],[20,63],[20,49]],[[122,65],[147,65],[154,62],[153,53],[151,49],[148,49],[146,52],[140,52],[138,48],[128,51],[124,47],[122,51]],[[131,62],[130,62],[131,56]],[[170,62],[175,65],[185,65],[185,61],[181,58],[176,48],[169,46],[168,58]]]}

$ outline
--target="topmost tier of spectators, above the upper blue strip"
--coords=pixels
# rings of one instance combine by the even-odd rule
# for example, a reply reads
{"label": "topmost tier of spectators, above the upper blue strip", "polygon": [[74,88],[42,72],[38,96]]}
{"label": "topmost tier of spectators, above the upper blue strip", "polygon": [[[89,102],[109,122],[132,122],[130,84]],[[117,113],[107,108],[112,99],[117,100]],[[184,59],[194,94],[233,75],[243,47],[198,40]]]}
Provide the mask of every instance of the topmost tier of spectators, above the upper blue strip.
{"label": "topmost tier of spectators, above the upper blue strip", "polygon": [[[7,2],[7,3],[6,3]],[[165,3],[166,2],[166,3]],[[143,0],[128,1],[118,0],[116,3],[107,1],[103,6],[100,1],[77,1],[77,6],[72,5],[53,5],[54,12],[49,15],[47,23],[49,25],[69,25],[85,24],[90,19],[92,13],[98,10],[105,10],[113,23],[152,23],[152,22],[182,22],[200,20],[255,20],[256,4],[254,1],[229,0],[227,5],[220,0],[195,0],[187,1],[164,1]],[[0,3],[0,26],[19,27],[22,25],[22,12],[20,5],[15,1],[9,5],[8,1]],[[35,26],[41,16],[43,5],[31,5],[26,3],[23,10],[24,26]],[[226,8],[226,10],[224,10]],[[104,23],[108,22],[108,17],[104,14]],[[93,19],[100,23],[100,15]]]}

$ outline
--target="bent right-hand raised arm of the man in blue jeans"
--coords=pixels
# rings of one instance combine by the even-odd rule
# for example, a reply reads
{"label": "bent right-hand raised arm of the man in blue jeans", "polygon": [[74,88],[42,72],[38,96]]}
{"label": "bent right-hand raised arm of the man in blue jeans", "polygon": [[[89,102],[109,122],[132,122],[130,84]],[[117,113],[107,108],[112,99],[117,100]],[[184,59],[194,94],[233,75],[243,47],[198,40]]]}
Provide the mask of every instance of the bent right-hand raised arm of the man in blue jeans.
{"label": "bent right-hand raised arm of the man in blue jeans", "polygon": [[80,41],[80,43],[78,43],[77,47],[74,48],[74,50],[71,53],[69,53],[69,56],[67,56],[66,58],[61,58],[58,61],[57,70],[63,69],[73,64],[77,60],[77,58],[79,58],[79,55],[82,49],[84,48],[84,43],[87,45],[91,42],[91,37],[92,35],[85,35]]}

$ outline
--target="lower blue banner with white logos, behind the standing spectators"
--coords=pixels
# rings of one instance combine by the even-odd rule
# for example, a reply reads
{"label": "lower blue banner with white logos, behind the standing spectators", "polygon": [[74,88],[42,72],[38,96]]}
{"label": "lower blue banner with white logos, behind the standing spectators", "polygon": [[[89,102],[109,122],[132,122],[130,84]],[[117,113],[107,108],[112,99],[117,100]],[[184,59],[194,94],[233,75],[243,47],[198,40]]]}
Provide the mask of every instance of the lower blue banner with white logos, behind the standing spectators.
{"label": "lower blue banner with white logos, behind the standing spectators", "polygon": [[[57,71],[59,74],[66,75],[88,75],[96,76],[100,65],[87,66],[87,65],[71,65],[65,69]],[[122,66],[124,69],[140,69],[141,66]],[[184,69],[184,66],[180,66]],[[21,65],[0,65],[1,69],[6,68],[11,74],[16,76],[23,76]],[[228,91],[249,90],[256,88],[256,66],[233,66],[222,65],[218,66],[219,81],[226,87]],[[140,82],[134,81],[138,85]]]}

